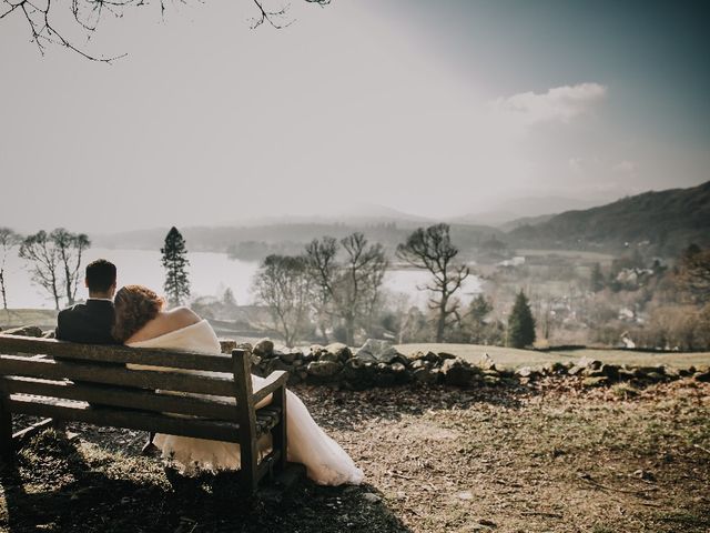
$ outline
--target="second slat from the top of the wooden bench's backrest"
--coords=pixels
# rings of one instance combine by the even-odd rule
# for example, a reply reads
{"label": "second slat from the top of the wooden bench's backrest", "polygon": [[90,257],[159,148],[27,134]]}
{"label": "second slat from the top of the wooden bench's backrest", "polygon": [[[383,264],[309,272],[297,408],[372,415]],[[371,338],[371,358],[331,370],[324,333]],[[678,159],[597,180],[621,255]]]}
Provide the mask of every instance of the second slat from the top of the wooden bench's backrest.
{"label": "second slat from the top of the wooden bench's backrest", "polygon": [[95,364],[29,360],[17,355],[0,355],[0,374],[22,375],[48,380],[69,379],[88,383],[133,386],[138,389],[162,389],[165,391],[194,392],[234,398],[234,380],[194,375],[181,372],[154,370],[129,370],[123,368],[99,368]]}

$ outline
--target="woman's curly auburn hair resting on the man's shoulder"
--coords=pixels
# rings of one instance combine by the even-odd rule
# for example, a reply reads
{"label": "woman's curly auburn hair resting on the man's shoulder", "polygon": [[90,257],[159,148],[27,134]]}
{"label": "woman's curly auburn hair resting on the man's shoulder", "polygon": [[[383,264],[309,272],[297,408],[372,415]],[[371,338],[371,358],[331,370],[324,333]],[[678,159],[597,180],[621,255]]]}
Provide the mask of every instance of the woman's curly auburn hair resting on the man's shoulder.
{"label": "woman's curly auburn hair resting on the man's shoulder", "polygon": [[138,330],[158,316],[164,300],[143,285],[125,285],[113,299],[115,318],[111,334],[118,342],[125,342]]}

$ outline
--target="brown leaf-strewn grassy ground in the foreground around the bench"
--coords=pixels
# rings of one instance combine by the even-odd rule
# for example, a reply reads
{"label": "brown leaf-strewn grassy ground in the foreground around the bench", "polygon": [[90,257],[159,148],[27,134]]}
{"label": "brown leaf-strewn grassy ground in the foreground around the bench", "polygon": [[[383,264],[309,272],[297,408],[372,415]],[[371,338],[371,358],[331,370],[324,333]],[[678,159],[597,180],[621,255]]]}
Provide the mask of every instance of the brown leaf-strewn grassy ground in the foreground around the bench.
{"label": "brown leaf-strewn grassy ground in the foreground around the bench", "polygon": [[[710,529],[710,384],[633,394],[530,389],[296,388],[366,473],[243,497],[233,475],[182,479],[143,434],[32,441],[0,477],[0,529],[23,532],[589,532]],[[621,400],[630,398],[630,400]]]}

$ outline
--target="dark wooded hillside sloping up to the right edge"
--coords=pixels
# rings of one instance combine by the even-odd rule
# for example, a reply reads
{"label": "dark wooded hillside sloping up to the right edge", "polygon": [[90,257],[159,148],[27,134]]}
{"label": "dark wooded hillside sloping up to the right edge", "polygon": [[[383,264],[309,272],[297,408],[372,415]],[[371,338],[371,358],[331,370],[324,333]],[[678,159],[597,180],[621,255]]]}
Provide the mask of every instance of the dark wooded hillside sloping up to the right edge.
{"label": "dark wooded hillside sloping up to the right edge", "polygon": [[618,251],[633,245],[674,254],[691,242],[710,245],[710,181],[651,191],[607,205],[567,211],[513,229],[514,247]]}

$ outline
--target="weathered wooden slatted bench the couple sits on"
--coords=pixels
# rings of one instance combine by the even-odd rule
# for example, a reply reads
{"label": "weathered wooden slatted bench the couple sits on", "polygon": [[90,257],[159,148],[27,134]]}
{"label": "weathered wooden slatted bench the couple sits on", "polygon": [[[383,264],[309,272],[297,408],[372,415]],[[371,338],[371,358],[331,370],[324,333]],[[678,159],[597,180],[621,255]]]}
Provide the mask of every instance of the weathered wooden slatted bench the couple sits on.
{"label": "weathered wooden slatted bench the couple sits on", "polygon": [[[13,413],[229,441],[240,444],[240,483],[252,493],[266,474],[286,470],[287,373],[273,372],[253,392],[250,371],[243,350],[206,355],[0,334],[0,457],[12,461],[27,435],[13,435]],[[255,409],[270,394],[271,403]],[[273,447],[260,461],[256,441],[267,432]]]}

